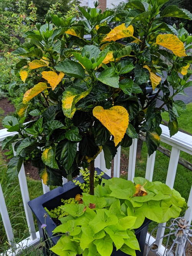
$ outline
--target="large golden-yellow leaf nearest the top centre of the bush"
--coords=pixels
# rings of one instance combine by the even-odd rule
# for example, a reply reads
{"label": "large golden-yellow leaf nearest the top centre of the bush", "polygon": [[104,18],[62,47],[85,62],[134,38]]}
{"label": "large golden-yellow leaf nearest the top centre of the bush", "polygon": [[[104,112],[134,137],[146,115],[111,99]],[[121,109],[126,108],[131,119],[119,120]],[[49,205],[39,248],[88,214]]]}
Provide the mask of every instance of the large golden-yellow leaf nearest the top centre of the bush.
{"label": "large golden-yellow leaf nearest the top centre of the bush", "polygon": [[115,27],[112,29],[108,35],[102,40],[102,42],[106,41],[116,41],[123,37],[132,37],[134,33],[134,28],[132,25],[126,28],[125,23]]}

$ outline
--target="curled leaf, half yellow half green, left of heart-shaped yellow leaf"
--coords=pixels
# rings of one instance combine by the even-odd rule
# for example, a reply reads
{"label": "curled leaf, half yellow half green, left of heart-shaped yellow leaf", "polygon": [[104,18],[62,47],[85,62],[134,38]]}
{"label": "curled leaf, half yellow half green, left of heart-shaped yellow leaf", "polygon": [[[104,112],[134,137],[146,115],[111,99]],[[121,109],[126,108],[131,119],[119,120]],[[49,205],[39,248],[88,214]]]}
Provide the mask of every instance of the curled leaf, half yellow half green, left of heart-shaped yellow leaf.
{"label": "curled leaf, half yellow half green, left of heart-shaped yellow leaf", "polygon": [[78,86],[71,86],[67,88],[63,92],[63,97],[62,97],[62,109],[63,113],[66,117],[72,118],[75,111],[76,107],[75,104],[87,96],[91,91],[91,88],[89,90],[84,91],[81,87]]}

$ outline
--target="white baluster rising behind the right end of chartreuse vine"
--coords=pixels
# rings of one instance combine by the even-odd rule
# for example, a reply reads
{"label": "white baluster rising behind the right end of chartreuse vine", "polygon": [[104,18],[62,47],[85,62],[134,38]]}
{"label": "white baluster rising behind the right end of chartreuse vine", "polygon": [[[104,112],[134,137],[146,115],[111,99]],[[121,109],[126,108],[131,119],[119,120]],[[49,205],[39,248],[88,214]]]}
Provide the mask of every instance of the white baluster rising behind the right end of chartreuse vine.
{"label": "white baluster rising behind the right end of chartreuse vine", "polygon": [[[167,178],[166,178],[166,185],[169,186],[169,188],[173,189],[174,181],[175,181],[175,175],[177,171],[177,165],[179,161],[179,154],[180,150],[178,148],[172,147],[171,154],[170,154],[170,160],[169,160],[169,167],[167,171]],[[166,226],[166,223],[160,223],[159,227]],[[160,238],[164,235],[165,228],[159,228],[157,230],[157,236],[156,239]],[[158,247],[160,248],[162,245],[163,239],[160,239],[157,242]]]}

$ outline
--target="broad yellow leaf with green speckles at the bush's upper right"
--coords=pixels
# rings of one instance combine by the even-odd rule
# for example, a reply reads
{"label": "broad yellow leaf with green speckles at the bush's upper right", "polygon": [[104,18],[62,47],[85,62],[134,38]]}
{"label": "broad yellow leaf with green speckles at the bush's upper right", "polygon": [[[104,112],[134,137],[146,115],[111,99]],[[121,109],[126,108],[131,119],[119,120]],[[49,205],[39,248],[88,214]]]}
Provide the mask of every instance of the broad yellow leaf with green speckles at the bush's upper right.
{"label": "broad yellow leaf with green speckles at the bush's upper right", "polygon": [[187,56],[185,53],[184,43],[182,43],[177,36],[172,34],[158,35],[156,38],[157,45],[161,45],[171,50],[176,56]]}

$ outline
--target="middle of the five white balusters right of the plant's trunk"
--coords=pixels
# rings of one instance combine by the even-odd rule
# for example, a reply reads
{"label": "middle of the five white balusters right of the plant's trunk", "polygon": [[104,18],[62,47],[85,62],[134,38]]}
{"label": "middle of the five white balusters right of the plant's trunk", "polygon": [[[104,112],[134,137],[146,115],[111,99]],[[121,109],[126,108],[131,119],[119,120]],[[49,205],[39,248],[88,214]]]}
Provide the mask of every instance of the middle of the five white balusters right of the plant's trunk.
{"label": "middle of the five white balusters right of the plant's trunk", "polygon": [[133,181],[133,178],[135,176],[136,153],[137,153],[137,139],[133,139],[132,145],[129,148],[129,166],[128,166],[127,180]]}

